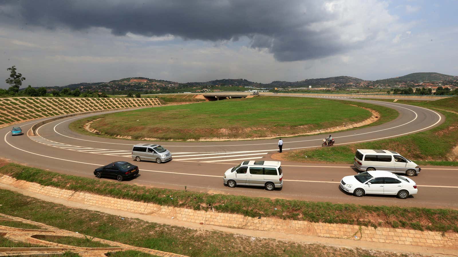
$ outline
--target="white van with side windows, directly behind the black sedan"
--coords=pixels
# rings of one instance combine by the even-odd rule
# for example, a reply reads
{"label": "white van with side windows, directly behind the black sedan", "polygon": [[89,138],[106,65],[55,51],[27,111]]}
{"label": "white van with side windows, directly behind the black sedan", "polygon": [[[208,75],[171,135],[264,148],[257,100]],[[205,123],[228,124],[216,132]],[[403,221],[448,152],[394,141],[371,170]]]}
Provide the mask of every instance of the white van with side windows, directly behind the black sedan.
{"label": "white van with side windows, directly behind the black sedan", "polygon": [[283,171],[279,161],[244,161],[224,172],[224,185],[265,187],[272,191],[283,187]]}

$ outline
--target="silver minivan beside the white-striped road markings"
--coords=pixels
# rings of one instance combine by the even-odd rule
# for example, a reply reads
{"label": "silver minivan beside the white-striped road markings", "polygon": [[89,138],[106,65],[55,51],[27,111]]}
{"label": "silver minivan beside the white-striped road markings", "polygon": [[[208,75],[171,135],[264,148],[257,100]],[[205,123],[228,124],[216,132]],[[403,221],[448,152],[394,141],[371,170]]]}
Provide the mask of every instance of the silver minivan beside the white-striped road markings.
{"label": "silver minivan beside the white-striped road markings", "polygon": [[155,161],[161,163],[172,160],[172,154],[160,145],[136,144],[132,148],[132,159],[135,159],[135,161]]}

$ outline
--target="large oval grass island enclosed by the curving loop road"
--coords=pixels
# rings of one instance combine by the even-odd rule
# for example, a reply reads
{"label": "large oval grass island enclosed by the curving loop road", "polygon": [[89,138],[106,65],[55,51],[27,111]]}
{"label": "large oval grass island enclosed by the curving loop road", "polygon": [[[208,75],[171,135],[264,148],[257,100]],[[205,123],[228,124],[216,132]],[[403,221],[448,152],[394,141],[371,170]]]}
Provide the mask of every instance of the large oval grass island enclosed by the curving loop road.
{"label": "large oval grass island enclosed by the curving loop road", "polygon": [[[396,114],[388,116],[392,115]],[[300,134],[357,123],[370,116],[369,111],[349,102],[259,96],[101,115],[91,118],[102,118],[91,126],[105,135],[130,135],[133,139],[230,139]],[[81,132],[86,122],[76,121],[71,128]]]}

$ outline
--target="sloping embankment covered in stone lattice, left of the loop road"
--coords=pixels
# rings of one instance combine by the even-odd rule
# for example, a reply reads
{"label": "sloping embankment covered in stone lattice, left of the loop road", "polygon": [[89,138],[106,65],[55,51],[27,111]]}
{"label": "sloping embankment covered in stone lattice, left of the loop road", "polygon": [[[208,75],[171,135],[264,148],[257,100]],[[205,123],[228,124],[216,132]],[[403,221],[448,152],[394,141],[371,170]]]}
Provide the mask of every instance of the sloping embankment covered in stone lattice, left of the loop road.
{"label": "sloping embankment covered in stone lattice, left of the loop road", "polygon": [[38,118],[154,105],[161,105],[157,98],[0,98],[0,128]]}

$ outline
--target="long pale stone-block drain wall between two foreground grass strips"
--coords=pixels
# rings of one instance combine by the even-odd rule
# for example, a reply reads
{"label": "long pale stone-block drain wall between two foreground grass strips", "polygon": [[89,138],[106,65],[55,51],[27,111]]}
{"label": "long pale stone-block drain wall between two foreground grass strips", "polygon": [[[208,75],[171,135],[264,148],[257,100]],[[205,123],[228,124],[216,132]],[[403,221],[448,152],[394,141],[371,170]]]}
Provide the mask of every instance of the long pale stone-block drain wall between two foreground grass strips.
{"label": "long pale stone-block drain wall between two foreground grass strips", "polygon": [[75,192],[38,183],[16,180],[3,175],[0,182],[27,191],[61,198],[68,201],[86,203],[110,209],[119,209],[137,214],[146,214],[166,219],[182,220],[201,225],[216,225],[229,228],[284,232],[310,236],[333,237],[348,240],[382,242],[412,246],[442,247],[458,249],[457,233],[441,233],[395,228],[373,228],[358,225],[314,223],[303,220],[283,220],[273,217],[247,217],[240,214],[218,213],[161,206],[154,203],[136,202],[101,196],[93,193]]}

